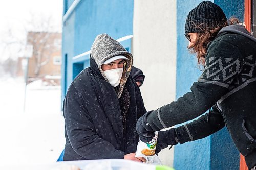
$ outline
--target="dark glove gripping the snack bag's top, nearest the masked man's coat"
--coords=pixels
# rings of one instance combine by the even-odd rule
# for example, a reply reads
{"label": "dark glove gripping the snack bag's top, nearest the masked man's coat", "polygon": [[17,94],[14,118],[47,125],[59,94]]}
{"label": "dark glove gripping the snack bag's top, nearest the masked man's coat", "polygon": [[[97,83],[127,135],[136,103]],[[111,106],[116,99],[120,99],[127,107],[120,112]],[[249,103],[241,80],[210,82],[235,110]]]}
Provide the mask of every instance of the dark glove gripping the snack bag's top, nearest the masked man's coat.
{"label": "dark glove gripping the snack bag's top, nearest the masked man's coat", "polygon": [[149,142],[155,137],[154,130],[147,123],[147,115],[150,112],[145,113],[142,117],[140,117],[136,124],[137,133],[140,136],[140,140],[143,142]]}

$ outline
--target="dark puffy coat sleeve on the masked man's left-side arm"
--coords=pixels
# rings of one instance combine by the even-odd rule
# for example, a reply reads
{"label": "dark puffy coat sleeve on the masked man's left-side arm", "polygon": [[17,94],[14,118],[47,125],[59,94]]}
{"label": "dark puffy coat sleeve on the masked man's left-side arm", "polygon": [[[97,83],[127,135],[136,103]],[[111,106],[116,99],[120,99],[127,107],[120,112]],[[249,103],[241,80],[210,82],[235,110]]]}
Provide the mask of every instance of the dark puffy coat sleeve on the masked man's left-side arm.
{"label": "dark puffy coat sleeve on the masked man's left-side arm", "polygon": [[65,98],[63,114],[69,141],[74,151],[86,159],[123,159],[124,152],[96,134],[96,129],[73,85]]}

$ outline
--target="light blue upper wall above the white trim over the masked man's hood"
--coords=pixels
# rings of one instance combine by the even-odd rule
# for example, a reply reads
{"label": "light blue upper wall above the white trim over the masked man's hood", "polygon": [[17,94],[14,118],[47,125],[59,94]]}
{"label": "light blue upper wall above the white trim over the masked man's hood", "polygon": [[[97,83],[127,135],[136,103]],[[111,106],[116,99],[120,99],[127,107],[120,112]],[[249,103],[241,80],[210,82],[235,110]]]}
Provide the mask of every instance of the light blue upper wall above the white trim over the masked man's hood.
{"label": "light blue upper wall above the white trim over the masked man's hood", "polygon": [[74,53],[91,49],[98,34],[118,39],[133,34],[133,1],[81,1],[76,9]]}

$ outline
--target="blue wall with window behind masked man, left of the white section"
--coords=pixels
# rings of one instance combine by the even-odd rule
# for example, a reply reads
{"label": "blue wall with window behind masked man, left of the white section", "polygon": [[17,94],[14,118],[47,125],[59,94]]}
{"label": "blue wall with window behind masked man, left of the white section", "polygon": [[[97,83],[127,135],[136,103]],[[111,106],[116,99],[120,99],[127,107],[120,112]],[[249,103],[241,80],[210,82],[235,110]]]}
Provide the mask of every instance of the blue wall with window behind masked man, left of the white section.
{"label": "blue wall with window behind masked man, left of the white section", "polygon": [[[64,0],[64,6],[71,6]],[[89,66],[89,55],[76,60],[72,58],[91,49],[98,34],[108,33],[114,39],[133,34],[133,1],[129,0],[82,0],[63,24],[62,57],[67,67],[62,66],[62,101],[73,78]],[[128,43],[127,43],[128,42]],[[122,42],[131,49],[131,41]],[[83,65],[83,68],[81,67]]]}

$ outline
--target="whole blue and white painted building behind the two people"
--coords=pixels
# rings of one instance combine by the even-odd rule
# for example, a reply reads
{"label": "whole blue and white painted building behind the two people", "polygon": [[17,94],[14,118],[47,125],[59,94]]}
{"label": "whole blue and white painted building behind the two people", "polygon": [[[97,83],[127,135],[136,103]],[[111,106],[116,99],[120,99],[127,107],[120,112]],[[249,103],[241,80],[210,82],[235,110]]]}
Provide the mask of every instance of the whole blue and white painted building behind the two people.
{"label": "whole blue and white painted building behind the two people", "polygon": [[[117,39],[133,54],[134,66],[143,71],[145,81],[140,89],[147,110],[190,91],[201,72],[186,48],[184,24],[188,12],[200,2],[64,0],[62,100],[72,80],[89,66],[90,48],[102,33]],[[255,0],[214,2],[227,18],[238,17],[253,32]],[[239,169],[240,155],[227,133],[224,128],[207,138],[165,149],[160,158],[175,169]]]}

